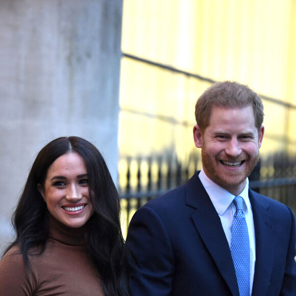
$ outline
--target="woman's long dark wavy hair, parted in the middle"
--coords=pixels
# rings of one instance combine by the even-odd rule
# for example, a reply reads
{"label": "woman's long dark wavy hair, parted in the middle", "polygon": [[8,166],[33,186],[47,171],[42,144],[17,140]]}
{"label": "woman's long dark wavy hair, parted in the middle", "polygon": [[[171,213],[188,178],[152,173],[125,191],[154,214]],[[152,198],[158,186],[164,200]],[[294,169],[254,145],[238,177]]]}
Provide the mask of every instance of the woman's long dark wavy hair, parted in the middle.
{"label": "woman's long dark wavy hair, parted in the middle", "polygon": [[120,228],[120,203],[108,167],[96,147],[80,137],[61,137],[48,143],[37,155],[12,217],[24,263],[30,268],[28,252],[35,246],[44,251],[48,238],[48,211],[37,184],[44,186],[47,170],[60,156],[78,153],[85,162],[94,214],[88,221],[86,244],[102,278],[106,296],[129,295],[128,264]]}

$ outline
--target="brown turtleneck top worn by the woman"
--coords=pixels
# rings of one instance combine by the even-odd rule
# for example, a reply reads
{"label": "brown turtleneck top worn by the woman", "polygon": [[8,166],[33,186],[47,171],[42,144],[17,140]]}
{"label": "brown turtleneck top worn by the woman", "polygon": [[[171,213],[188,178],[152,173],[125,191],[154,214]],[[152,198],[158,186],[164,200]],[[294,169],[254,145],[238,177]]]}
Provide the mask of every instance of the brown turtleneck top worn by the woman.
{"label": "brown turtleneck top worn by the woman", "polygon": [[29,255],[28,277],[17,246],[0,261],[1,296],[103,296],[96,268],[86,252],[85,228],[69,228],[50,216],[50,236],[41,255]]}

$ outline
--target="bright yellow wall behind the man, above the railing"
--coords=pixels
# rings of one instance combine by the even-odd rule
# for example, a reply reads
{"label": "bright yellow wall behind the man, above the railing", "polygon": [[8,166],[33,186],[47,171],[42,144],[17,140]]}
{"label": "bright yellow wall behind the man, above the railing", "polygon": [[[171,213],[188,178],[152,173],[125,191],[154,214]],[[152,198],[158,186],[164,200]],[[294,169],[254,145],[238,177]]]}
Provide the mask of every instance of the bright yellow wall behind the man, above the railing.
{"label": "bright yellow wall behind the man, above the railing", "polygon": [[[122,51],[212,80],[237,80],[259,94],[296,105],[292,0],[125,0]],[[120,152],[175,149],[185,160],[194,149],[194,105],[209,85],[122,58]],[[265,100],[263,104],[262,153],[291,151],[294,109]]]}

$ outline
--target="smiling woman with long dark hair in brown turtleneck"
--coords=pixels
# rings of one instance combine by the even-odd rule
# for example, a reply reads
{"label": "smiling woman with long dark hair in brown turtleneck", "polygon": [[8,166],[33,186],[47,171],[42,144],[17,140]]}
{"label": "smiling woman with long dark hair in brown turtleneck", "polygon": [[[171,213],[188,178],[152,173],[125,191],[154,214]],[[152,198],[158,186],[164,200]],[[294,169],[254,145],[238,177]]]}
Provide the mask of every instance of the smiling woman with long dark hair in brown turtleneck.
{"label": "smiling woman with long dark hair in brown turtleneck", "polygon": [[38,154],[0,261],[0,295],[129,295],[119,198],[96,147],[62,137]]}

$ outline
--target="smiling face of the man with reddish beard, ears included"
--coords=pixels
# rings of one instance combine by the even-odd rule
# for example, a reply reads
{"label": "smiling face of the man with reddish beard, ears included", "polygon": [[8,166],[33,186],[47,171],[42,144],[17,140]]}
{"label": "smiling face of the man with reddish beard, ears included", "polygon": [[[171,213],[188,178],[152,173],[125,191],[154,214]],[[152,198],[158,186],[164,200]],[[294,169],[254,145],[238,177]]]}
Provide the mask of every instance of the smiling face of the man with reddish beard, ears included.
{"label": "smiling face of the man with reddish beard, ears included", "polygon": [[196,147],[202,148],[205,174],[234,195],[241,193],[259,160],[264,127],[255,127],[253,107],[226,109],[212,107],[204,133],[193,128]]}

